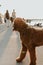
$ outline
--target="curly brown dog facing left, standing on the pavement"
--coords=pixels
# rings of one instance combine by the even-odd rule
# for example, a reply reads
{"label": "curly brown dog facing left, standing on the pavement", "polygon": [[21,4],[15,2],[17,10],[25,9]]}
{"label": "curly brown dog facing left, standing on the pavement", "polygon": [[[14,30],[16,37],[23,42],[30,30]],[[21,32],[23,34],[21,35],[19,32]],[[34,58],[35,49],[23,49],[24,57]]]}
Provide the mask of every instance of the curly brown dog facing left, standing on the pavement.
{"label": "curly brown dog facing left, standing on the pavement", "polygon": [[25,58],[28,50],[30,53],[30,65],[36,65],[35,48],[43,45],[43,29],[39,30],[28,26],[22,18],[16,18],[13,27],[13,30],[20,33],[22,40],[22,51],[16,61],[21,62]]}

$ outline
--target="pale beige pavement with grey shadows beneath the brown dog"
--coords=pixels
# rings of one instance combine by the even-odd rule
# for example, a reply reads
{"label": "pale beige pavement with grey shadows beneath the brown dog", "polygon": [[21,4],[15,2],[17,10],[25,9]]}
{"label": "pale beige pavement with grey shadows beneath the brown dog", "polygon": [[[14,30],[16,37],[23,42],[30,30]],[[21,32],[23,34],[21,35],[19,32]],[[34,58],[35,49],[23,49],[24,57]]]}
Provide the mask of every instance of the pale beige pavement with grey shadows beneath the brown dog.
{"label": "pale beige pavement with grey shadows beneath the brown dog", "polygon": [[[11,27],[0,32],[0,65],[29,65],[30,56],[28,51],[22,63],[16,62],[21,50],[20,42],[19,33],[13,32]],[[43,46],[36,48],[36,55],[36,65],[43,65]]]}

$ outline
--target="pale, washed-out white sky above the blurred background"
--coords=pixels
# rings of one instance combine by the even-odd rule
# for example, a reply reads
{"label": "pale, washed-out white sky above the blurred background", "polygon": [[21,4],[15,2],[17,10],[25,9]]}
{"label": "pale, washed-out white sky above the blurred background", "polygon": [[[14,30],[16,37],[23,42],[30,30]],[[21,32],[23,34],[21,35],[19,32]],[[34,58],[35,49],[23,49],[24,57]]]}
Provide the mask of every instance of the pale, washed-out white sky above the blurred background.
{"label": "pale, washed-out white sky above the blurred background", "polygon": [[10,15],[15,9],[16,16],[22,18],[43,18],[43,0],[0,0],[0,13],[8,9]]}

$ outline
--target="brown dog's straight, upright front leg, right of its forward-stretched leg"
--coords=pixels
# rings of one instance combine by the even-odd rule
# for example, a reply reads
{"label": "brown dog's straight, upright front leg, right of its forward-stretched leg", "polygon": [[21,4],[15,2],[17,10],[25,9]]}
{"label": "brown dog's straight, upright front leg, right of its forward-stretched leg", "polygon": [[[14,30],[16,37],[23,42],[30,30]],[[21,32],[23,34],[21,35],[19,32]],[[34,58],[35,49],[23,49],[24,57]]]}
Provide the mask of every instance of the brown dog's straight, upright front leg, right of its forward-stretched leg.
{"label": "brown dog's straight, upright front leg, right of its forward-stretched leg", "polygon": [[30,65],[36,65],[35,47],[30,48],[29,52],[30,52]]}

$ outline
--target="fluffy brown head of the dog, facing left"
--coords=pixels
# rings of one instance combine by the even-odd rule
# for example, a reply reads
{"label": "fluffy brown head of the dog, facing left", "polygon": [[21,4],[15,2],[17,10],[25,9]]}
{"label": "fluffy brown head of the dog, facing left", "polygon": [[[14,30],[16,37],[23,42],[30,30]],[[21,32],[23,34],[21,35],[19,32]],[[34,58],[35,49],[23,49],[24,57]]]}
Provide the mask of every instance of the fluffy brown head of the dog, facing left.
{"label": "fluffy brown head of the dog, facing left", "polygon": [[27,24],[22,18],[16,18],[13,24],[13,31],[20,31],[27,27]]}

